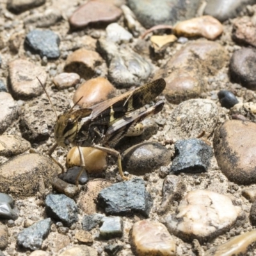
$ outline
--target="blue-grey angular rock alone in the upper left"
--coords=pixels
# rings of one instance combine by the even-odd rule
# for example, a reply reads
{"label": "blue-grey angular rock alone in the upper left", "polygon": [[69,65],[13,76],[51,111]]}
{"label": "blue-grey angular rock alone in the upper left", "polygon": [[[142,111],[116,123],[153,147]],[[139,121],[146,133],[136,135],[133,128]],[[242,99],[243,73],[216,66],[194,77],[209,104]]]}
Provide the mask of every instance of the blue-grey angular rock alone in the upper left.
{"label": "blue-grey angular rock alone in the upper left", "polygon": [[44,56],[49,59],[60,57],[60,37],[51,30],[32,30],[26,35],[25,44],[42,58]]}

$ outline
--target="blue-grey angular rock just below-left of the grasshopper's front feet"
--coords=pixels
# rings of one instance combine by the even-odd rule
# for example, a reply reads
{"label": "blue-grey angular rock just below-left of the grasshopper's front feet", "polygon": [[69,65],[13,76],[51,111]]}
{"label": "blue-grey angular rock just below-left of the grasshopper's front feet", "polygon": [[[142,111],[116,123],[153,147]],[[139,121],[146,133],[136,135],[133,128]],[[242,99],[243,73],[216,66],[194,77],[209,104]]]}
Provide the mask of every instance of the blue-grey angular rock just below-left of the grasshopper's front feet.
{"label": "blue-grey angular rock just below-left of the grasshopper's front feet", "polygon": [[78,220],[78,208],[75,201],[65,195],[47,195],[45,211],[48,216],[63,222],[68,227]]}

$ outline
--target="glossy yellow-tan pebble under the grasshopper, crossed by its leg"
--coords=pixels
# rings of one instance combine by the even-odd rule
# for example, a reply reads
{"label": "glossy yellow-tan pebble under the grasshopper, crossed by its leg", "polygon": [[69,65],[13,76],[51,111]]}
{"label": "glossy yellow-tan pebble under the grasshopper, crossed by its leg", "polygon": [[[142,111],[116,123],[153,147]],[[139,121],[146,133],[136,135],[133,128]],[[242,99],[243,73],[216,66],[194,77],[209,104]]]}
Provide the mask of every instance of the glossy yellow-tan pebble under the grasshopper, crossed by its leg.
{"label": "glossy yellow-tan pebble under the grasshopper, crossed by its leg", "polygon": [[[88,173],[102,172],[107,166],[107,153],[97,148],[82,147],[85,170]],[[81,159],[77,147],[72,147],[67,154],[67,166],[81,166]]]}

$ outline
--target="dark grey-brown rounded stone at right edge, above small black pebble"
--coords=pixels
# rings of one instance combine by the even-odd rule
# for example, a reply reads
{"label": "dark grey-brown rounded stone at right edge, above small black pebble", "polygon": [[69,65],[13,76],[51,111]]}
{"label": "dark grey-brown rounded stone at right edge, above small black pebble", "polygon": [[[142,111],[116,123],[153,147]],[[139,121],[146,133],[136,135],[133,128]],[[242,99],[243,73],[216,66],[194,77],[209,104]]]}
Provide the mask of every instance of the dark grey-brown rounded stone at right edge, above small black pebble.
{"label": "dark grey-brown rounded stone at right edge, above small black pebble", "polygon": [[256,50],[242,48],[233,53],[230,60],[230,76],[235,83],[256,90]]}

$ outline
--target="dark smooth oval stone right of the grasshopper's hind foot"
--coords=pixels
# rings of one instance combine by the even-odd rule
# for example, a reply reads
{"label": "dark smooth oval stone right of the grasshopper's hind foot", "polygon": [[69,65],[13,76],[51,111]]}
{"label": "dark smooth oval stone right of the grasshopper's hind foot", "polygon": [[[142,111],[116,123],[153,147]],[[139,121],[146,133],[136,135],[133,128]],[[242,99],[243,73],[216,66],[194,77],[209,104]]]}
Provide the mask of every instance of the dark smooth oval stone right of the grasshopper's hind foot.
{"label": "dark smooth oval stone right of the grasshopper's hind foot", "polygon": [[144,142],[128,148],[122,154],[125,171],[136,175],[150,173],[171,161],[170,150],[156,142]]}

